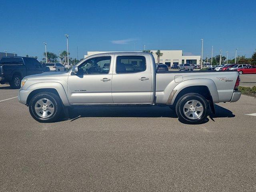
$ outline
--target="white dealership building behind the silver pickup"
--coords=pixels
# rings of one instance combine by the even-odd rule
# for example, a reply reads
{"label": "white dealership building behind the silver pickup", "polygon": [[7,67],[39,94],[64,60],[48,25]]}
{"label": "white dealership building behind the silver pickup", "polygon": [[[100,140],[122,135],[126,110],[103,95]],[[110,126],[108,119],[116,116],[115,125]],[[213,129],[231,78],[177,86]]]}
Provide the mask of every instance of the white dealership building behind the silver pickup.
{"label": "white dealership building behind the silver pickup", "polygon": [[[153,52],[153,56],[155,58],[155,62],[157,63],[157,50],[151,50]],[[88,51],[87,55],[84,56],[84,58],[99,54],[99,53],[108,53],[112,51]],[[163,54],[160,57],[160,63],[166,64],[167,66],[173,66],[174,64],[200,64],[200,58],[201,56],[184,56],[182,54],[182,50],[161,50],[161,53]]]}

